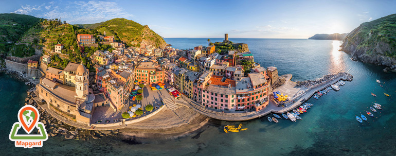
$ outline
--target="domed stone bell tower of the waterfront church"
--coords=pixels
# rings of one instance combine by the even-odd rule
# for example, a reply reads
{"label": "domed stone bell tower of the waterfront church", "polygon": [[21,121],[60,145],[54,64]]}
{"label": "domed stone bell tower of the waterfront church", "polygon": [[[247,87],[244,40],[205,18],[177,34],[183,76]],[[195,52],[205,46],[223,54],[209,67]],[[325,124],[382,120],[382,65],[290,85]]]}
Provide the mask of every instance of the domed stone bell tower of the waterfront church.
{"label": "domed stone bell tower of the waterfront church", "polygon": [[88,71],[85,66],[81,64],[76,70],[76,93],[77,98],[87,99],[88,96]]}

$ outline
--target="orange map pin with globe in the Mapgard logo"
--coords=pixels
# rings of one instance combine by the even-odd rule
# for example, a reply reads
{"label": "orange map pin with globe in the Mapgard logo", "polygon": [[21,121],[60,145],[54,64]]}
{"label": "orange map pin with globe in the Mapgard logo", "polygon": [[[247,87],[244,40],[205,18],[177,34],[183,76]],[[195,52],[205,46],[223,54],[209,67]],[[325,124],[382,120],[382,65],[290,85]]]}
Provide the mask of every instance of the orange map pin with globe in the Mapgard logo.
{"label": "orange map pin with globe in the Mapgard logo", "polygon": [[[37,125],[37,121],[39,120],[40,117],[39,115],[40,115],[39,111],[31,105],[26,105],[19,110],[18,120],[19,123],[22,124],[22,128],[25,130],[26,133],[30,134],[34,126]],[[28,121],[25,121],[25,119],[23,118],[24,116],[28,120],[30,120],[31,118],[32,122],[30,124],[27,123]]]}

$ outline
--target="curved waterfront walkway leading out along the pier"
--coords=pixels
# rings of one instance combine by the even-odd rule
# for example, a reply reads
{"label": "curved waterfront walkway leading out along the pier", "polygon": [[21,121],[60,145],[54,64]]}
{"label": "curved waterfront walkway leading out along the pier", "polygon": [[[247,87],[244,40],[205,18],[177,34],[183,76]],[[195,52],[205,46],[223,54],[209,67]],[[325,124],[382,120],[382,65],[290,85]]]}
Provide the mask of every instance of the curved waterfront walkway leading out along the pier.
{"label": "curved waterfront walkway leading out along the pier", "polygon": [[[201,106],[199,103],[189,99],[185,95],[182,95],[182,101],[179,99],[176,101],[177,104],[179,105],[185,105],[187,107],[190,107],[191,109],[194,109],[195,111],[201,113],[202,115],[206,115],[208,117],[212,117],[215,119],[220,119],[220,120],[229,120],[229,121],[245,121],[245,120],[250,120],[254,118],[258,118],[270,113],[286,113],[289,112],[296,107],[299,107],[303,102],[307,101],[311,96],[313,96],[316,92],[327,88],[328,86],[331,86],[331,84],[334,84],[335,82],[339,80],[346,80],[346,77],[344,75],[337,75],[334,78],[322,82],[310,89],[308,88],[299,88],[293,85],[292,81],[286,81],[286,83],[282,86],[280,86],[278,89],[281,89],[283,91],[281,92],[286,92],[286,90],[289,90],[290,92],[286,92],[287,94],[291,94],[295,92],[296,94],[292,95],[292,99],[290,101],[295,101],[293,103],[289,103],[288,106],[286,107],[277,107],[274,105],[272,102],[272,99],[269,99],[268,106],[264,108],[263,110],[260,110],[259,112],[241,112],[241,113],[223,113],[223,112],[218,112],[218,111],[213,111],[210,108],[206,108]],[[275,90],[276,91],[276,90]],[[293,91],[293,92],[291,92]]]}

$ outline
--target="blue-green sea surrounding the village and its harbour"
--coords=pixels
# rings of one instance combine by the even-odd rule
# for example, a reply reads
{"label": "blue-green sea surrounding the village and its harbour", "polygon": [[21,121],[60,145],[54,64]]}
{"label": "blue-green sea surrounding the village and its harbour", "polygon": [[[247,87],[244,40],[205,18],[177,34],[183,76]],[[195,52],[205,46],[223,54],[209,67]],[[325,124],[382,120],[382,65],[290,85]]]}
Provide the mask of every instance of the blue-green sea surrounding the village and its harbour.
{"label": "blue-green sea surrounding the village and its harbour", "polygon": [[[211,42],[223,39],[210,39]],[[352,61],[338,51],[342,41],[305,39],[229,39],[247,43],[255,61],[264,67],[276,66],[279,75],[293,74],[292,80],[314,80],[323,75],[348,72],[353,81],[340,86],[318,100],[292,123],[281,119],[269,123],[266,117],[247,122],[211,120],[199,135],[178,139],[143,141],[131,145],[117,136],[102,140],[77,141],[51,137],[42,148],[13,147],[9,131],[17,121],[16,113],[24,104],[27,87],[5,74],[0,74],[0,153],[38,155],[396,155],[396,73],[384,73],[384,66]],[[207,45],[206,39],[168,38],[172,47],[189,49]],[[384,82],[380,87],[376,79]],[[371,93],[377,97],[371,96]],[[388,93],[390,97],[384,96]],[[373,103],[383,110],[365,114]],[[355,115],[365,114],[360,124]],[[242,123],[246,131],[225,133],[224,125]],[[195,135],[195,134],[194,134]]]}

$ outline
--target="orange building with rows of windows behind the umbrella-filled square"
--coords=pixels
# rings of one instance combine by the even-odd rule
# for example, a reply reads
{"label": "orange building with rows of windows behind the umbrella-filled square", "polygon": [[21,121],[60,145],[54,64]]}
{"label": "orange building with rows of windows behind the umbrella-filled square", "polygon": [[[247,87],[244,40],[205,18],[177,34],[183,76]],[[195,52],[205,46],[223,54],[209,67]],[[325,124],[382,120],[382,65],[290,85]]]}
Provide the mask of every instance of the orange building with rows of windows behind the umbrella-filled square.
{"label": "orange building with rows of windows behind the umbrella-filled square", "polygon": [[135,77],[148,84],[164,83],[165,71],[155,62],[142,62],[135,68]]}

